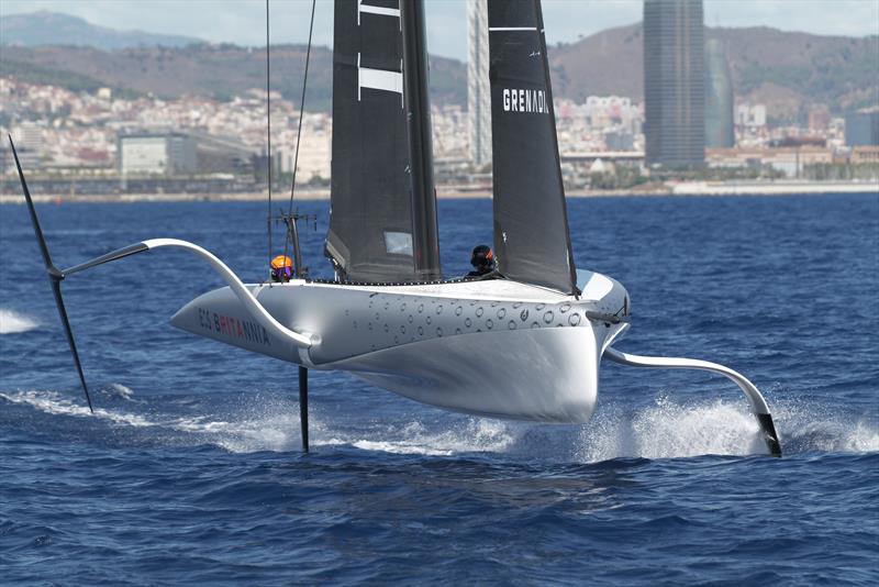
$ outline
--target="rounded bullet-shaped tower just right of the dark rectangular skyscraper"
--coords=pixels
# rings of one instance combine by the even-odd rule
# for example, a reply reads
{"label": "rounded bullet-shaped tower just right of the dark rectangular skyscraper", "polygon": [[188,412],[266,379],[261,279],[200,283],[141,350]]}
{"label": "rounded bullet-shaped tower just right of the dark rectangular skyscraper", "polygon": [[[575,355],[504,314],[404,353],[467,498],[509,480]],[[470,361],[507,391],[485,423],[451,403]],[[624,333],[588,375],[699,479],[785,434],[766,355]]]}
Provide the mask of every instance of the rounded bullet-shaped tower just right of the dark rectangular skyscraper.
{"label": "rounded bullet-shaped tower just right of the dark rectangular skyscraper", "polygon": [[716,38],[705,41],[705,146],[735,146],[733,82],[726,54]]}

